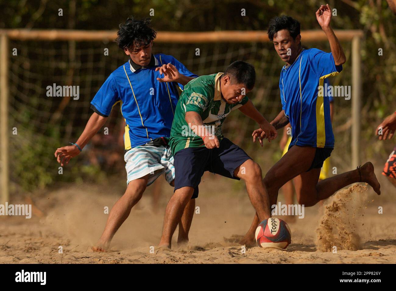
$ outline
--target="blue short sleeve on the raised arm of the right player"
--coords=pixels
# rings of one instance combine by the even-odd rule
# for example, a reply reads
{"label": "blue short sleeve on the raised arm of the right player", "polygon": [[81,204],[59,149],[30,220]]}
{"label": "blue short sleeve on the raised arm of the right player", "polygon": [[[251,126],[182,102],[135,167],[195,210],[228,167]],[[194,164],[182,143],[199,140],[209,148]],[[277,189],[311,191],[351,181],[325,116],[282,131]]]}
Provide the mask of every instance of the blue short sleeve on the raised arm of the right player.
{"label": "blue short sleeve on the raised arm of the right player", "polygon": [[336,66],[332,53],[326,53],[320,49],[309,49],[308,58],[312,70],[318,77],[326,76],[334,72],[341,72],[343,66]]}

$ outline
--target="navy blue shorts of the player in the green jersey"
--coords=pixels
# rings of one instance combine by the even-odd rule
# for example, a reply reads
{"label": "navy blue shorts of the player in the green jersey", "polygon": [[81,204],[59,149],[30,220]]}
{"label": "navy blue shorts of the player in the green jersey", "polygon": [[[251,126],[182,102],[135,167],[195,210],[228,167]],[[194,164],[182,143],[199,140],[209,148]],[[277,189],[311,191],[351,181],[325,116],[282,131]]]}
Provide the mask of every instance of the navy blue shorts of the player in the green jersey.
{"label": "navy blue shorts of the player in the green jersey", "polygon": [[231,179],[237,167],[250,159],[242,148],[223,138],[219,148],[183,148],[174,155],[175,190],[182,187],[194,188],[192,199],[198,197],[198,185],[205,171]]}

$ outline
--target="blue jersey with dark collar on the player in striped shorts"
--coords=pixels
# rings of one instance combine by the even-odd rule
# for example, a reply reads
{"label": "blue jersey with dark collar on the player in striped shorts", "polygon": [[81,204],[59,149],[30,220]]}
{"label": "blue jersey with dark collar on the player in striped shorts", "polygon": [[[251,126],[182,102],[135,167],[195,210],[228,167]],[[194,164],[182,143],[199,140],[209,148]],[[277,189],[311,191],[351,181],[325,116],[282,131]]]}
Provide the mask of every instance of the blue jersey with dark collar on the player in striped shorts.
{"label": "blue jersey with dark collar on the player in striped shorts", "polygon": [[121,103],[126,127],[125,150],[144,145],[158,137],[169,137],[179,94],[177,85],[159,82],[163,78],[156,67],[173,64],[185,76],[198,77],[170,55],[152,55],[147,67],[129,61],[112,72],[91,101],[91,108],[101,116],[109,116],[112,107]]}

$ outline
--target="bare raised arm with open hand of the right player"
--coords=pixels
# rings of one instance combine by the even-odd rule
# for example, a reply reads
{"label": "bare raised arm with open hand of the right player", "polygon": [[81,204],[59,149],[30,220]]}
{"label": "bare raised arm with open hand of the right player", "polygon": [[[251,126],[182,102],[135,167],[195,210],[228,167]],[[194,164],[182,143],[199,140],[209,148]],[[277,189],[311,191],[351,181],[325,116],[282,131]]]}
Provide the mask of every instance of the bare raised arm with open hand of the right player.
{"label": "bare raised arm with open hand of the right player", "polygon": [[318,11],[316,11],[316,20],[318,20],[320,27],[322,27],[322,30],[324,31],[327,39],[329,40],[330,49],[331,53],[333,54],[335,65],[339,66],[344,64],[346,61],[344,50],[340,42],[338,41],[337,36],[335,36],[333,29],[330,26],[331,8],[329,4],[327,4],[326,6],[320,6]]}

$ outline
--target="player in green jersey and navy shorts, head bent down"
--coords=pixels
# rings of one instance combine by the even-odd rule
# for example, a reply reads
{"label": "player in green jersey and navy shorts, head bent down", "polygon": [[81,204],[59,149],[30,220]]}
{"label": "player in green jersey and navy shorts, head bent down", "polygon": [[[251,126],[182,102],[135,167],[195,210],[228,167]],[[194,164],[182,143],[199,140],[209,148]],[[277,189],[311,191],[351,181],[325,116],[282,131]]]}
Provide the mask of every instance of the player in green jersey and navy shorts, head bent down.
{"label": "player in green jersey and navy shorts, head bent down", "polygon": [[198,185],[205,171],[243,179],[259,219],[270,217],[260,166],[221,133],[227,115],[238,108],[259,124],[269,140],[276,137],[274,127],[245,95],[254,84],[254,67],[236,61],[225,73],[200,76],[185,86],[177,103],[169,141],[175,158],[175,193],[166,207],[161,247],[171,247],[183,209],[198,197]]}

